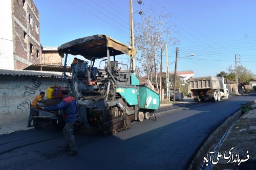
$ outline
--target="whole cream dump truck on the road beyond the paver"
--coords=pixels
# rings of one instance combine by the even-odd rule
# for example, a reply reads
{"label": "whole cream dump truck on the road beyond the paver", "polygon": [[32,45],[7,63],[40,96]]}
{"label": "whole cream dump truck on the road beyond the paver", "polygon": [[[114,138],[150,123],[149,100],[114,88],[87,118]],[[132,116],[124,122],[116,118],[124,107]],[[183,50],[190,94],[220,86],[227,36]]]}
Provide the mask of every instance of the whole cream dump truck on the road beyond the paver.
{"label": "whole cream dump truck on the road beyond the paver", "polygon": [[190,78],[191,96],[195,102],[210,100],[214,102],[228,99],[229,91],[226,88],[226,79],[223,77]]}

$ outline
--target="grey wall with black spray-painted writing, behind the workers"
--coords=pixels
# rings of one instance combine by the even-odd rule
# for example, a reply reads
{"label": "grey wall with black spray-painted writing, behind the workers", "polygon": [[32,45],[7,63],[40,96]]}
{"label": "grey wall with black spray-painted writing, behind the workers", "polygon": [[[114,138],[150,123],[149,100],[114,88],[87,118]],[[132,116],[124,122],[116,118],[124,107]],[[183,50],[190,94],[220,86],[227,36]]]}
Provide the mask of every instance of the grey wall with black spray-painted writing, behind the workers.
{"label": "grey wall with black spray-painted writing, behind the workers", "polygon": [[3,123],[28,119],[35,96],[53,85],[62,86],[62,82],[50,77],[1,75],[0,127]]}

